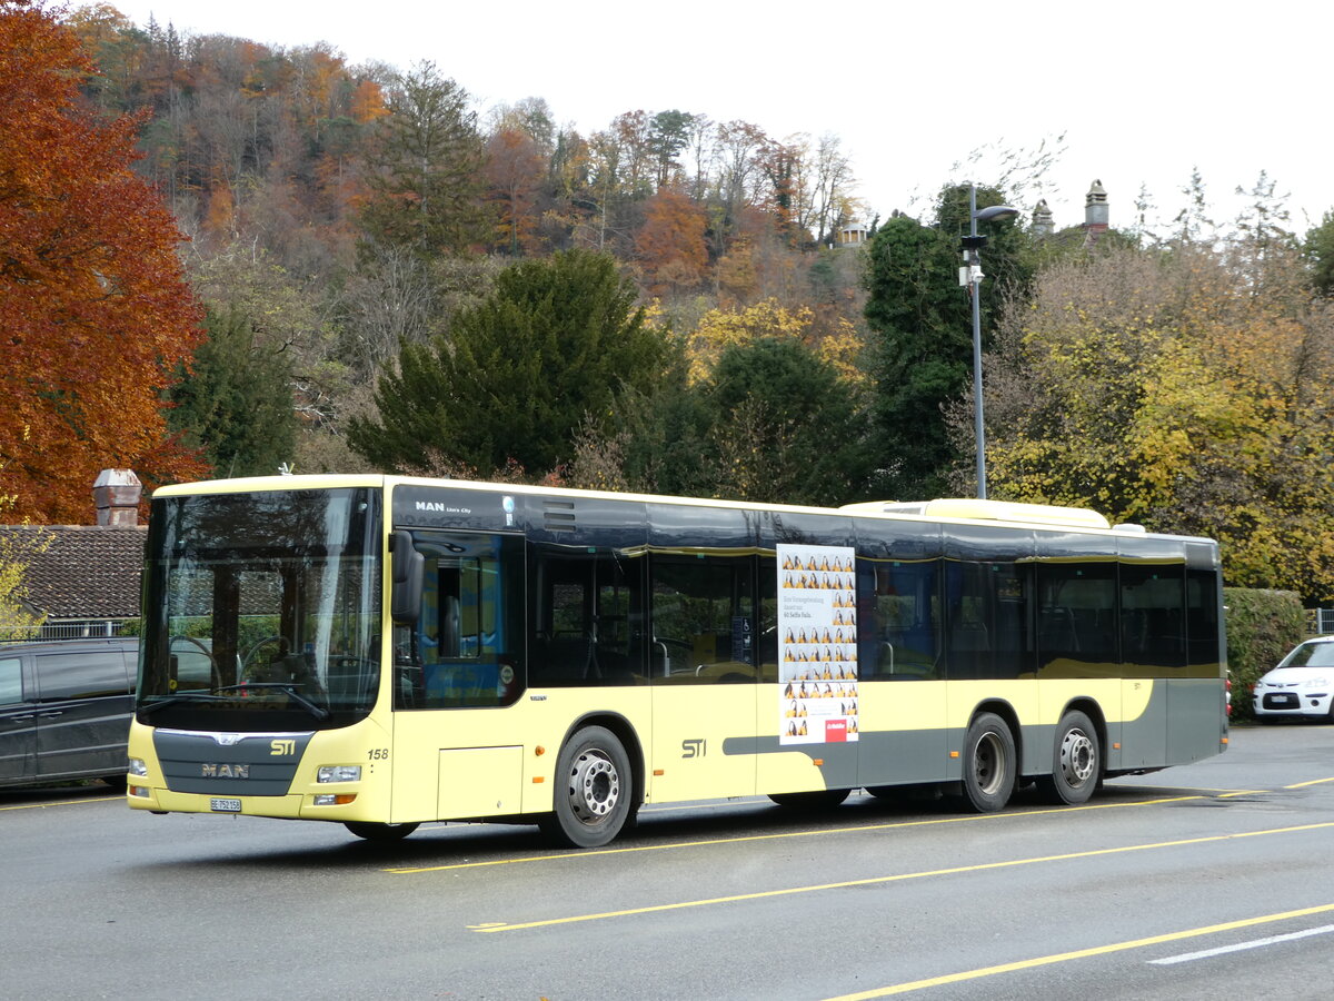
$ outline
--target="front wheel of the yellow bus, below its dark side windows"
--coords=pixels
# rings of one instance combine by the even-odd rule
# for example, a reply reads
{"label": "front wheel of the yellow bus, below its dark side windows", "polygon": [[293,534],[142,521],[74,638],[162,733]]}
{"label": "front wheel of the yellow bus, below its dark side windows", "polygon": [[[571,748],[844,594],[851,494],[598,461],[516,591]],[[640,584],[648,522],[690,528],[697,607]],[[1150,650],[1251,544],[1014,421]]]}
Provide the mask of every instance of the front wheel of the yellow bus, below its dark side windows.
{"label": "front wheel of the yellow bus, below its dark side windows", "polygon": [[559,845],[599,848],[624,829],[634,813],[630,755],[602,726],[576,733],[556,758],[552,813],[539,826]]}

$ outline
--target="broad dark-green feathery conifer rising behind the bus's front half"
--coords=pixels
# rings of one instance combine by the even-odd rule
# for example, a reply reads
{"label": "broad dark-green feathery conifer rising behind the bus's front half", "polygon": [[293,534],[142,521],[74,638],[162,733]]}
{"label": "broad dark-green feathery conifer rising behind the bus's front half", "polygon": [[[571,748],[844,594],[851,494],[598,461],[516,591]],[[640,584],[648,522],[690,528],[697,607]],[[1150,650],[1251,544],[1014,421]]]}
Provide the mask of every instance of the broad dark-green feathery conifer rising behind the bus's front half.
{"label": "broad dark-green feathery conifer rising behind the bus's front half", "polygon": [[352,420],[348,443],[387,470],[436,459],[480,476],[514,464],[539,475],[571,458],[586,415],[610,428],[622,394],[651,388],[666,359],[666,338],[646,327],[610,255],[523,262],[446,334],[403,346],[382,370],[379,414]]}

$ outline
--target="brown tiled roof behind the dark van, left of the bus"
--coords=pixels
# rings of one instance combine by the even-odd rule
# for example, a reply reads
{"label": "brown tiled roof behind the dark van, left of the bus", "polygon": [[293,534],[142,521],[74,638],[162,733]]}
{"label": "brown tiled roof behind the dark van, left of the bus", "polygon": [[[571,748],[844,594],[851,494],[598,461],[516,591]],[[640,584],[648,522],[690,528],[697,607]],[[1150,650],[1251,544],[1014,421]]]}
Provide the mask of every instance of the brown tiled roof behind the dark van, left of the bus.
{"label": "brown tiled roof behind the dark van, left of the bus", "polygon": [[[0,526],[8,549],[27,563],[25,603],[52,619],[107,619],[139,614],[139,578],[147,526]],[[33,543],[49,545],[35,555]]]}

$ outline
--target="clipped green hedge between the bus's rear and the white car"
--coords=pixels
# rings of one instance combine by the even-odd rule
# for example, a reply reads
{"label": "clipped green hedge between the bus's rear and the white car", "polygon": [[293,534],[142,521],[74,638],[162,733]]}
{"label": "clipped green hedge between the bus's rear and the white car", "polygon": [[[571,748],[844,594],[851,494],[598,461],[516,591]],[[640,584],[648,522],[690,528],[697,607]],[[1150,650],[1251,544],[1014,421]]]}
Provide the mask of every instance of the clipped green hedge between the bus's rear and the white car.
{"label": "clipped green hedge between the bus's rear and the white car", "polygon": [[1225,587],[1223,605],[1233,719],[1250,719],[1251,685],[1306,638],[1306,613],[1295,591]]}

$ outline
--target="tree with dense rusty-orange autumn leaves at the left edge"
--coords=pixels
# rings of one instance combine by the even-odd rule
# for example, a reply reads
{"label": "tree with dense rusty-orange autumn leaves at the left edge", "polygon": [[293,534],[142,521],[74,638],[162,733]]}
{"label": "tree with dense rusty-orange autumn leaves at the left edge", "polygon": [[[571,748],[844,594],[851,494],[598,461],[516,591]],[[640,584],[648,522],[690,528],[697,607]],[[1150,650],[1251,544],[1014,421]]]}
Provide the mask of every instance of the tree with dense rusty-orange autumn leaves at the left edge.
{"label": "tree with dense rusty-orange autumn leaves at the left edge", "polygon": [[91,522],[99,470],[205,471],[160,394],[200,338],[181,236],[136,178],[137,117],[105,121],[61,8],[0,0],[0,490],[11,519]]}

